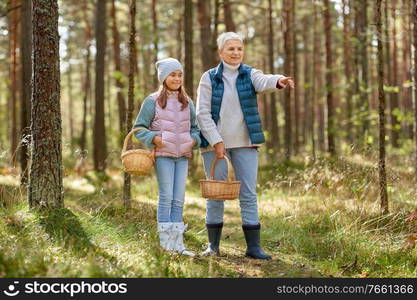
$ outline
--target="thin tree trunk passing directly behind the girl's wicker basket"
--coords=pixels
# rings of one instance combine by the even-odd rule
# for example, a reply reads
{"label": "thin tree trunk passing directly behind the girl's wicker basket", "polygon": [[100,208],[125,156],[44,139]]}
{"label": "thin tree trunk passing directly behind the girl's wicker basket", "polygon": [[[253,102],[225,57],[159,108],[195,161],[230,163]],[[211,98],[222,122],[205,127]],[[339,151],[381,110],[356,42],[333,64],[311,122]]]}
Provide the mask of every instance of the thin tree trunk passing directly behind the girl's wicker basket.
{"label": "thin tree trunk passing directly behind the girl's wicker basket", "polygon": [[[126,131],[127,134],[132,128],[133,100],[135,98],[135,53],[136,53],[136,0],[130,0],[130,34],[129,34],[129,92],[128,106],[126,110]],[[131,206],[131,178],[124,173],[123,204],[126,208]]]}

